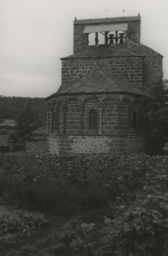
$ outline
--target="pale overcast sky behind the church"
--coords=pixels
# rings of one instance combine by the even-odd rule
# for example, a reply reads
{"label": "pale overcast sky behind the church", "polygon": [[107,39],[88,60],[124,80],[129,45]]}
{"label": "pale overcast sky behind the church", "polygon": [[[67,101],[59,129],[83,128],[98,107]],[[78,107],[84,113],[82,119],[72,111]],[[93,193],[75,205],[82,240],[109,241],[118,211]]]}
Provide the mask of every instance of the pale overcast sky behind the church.
{"label": "pale overcast sky behind the church", "polygon": [[138,13],[141,44],[163,55],[168,79],[167,0],[0,0],[0,95],[45,98],[58,90],[60,58],[73,54],[75,16]]}

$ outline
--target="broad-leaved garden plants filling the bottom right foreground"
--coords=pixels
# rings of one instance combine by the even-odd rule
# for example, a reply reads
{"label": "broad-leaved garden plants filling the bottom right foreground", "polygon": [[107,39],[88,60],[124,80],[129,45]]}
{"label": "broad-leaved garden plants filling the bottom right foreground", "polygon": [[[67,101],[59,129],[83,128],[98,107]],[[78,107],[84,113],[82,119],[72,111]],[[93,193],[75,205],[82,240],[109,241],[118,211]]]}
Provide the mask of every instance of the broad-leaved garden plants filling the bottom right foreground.
{"label": "broad-leaved garden plants filling the bottom right foreground", "polygon": [[166,256],[168,252],[168,193],[153,192],[143,198],[137,196],[135,205],[123,216],[106,218],[105,227],[81,223],[74,219],[62,226],[57,253],[92,256]]}

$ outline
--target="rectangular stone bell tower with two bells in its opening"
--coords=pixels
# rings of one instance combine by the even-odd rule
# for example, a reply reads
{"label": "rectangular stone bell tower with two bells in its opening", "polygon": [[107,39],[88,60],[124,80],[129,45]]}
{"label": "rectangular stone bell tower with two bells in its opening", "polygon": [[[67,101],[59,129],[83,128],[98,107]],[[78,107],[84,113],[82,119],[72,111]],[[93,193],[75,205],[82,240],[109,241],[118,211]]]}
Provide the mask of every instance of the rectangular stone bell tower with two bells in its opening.
{"label": "rectangular stone bell tower with two bells in its opening", "polygon": [[85,20],[77,20],[75,17],[73,53],[88,45],[124,44],[126,36],[140,43],[140,23],[140,15]]}

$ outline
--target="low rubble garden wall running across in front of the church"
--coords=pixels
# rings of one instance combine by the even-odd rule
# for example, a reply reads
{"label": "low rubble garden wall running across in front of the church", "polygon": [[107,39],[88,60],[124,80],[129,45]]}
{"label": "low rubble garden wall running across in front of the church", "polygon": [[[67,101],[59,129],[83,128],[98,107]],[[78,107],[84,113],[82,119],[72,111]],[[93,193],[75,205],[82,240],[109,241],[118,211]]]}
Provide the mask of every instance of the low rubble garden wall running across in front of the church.
{"label": "low rubble garden wall running across in front of the church", "polygon": [[[168,180],[168,156],[56,156],[51,154],[0,155],[0,175],[21,180],[53,182],[66,180],[74,185],[113,185],[129,182],[130,173],[151,176],[152,180]],[[148,178],[149,180],[149,178]]]}

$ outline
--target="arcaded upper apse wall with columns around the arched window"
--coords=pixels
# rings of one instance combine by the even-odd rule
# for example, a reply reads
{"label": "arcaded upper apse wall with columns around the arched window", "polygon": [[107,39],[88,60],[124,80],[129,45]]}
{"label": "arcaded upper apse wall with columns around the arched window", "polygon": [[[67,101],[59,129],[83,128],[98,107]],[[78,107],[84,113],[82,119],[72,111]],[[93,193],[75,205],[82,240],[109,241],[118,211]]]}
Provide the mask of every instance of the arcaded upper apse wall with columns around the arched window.
{"label": "arcaded upper apse wall with columns around the arched window", "polygon": [[[133,112],[139,115],[140,97],[119,94],[87,94],[63,95],[51,99],[50,106],[59,109],[59,133],[69,135],[113,135],[128,134],[133,131]],[[63,108],[62,108],[63,106]],[[100,132],[100,108],[102,109],[102,124]],[[89,111],[97,111],[97,130],[89,130]],[[65,112],[65,117],[64,117]],[[63,132],[63,120],[65,132]],[[49,133],[58,133],[57,115],[49,115]],[[54,131],[52,131],[52,122]],[[140,126],[137,118],[137,127]],[[140,129],[139,129],[140,131]]]}

